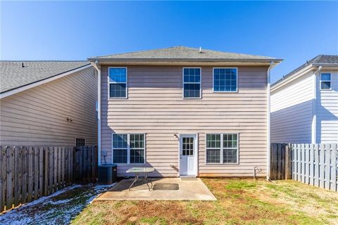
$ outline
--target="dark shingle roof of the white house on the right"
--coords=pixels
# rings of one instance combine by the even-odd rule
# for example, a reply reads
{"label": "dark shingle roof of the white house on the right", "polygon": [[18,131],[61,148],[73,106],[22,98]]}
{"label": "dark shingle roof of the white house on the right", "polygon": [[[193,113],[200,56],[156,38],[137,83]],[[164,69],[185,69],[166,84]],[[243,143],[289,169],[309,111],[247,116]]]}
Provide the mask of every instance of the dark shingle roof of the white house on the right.
{"label": "dark shingle roof of the white house on the right", "polygon": [[276,84],[279,84],[284,79],[287,79],[287,77],[294,75],[296,72],[303,70],[303,68],[306,68],[308,65],[311,65],[311,64],[323,65],[323,64],[337,64],[337,63],[338,63],[338,56],[331,56],[331,55],[315,56],[315,58],[306,61],[306,63],[301,65],[299,68],[296,68],[295,70],[292,70],[292,72],[289,72],[287,75],[284,75],[281,79],[277,80],[277,82],[273,83],[271,87],[275,86]]}

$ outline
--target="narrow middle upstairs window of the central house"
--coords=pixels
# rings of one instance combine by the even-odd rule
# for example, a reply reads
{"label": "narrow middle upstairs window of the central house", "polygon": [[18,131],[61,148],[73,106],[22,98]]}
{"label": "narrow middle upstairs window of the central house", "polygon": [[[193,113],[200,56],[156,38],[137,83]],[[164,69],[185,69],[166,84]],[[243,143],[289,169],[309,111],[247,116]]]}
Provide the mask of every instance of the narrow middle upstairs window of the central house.
{"label": "narrow middle upstairs window of the central house", "polygon": [[201,98],[201,68],[183,68],[183,98]]}

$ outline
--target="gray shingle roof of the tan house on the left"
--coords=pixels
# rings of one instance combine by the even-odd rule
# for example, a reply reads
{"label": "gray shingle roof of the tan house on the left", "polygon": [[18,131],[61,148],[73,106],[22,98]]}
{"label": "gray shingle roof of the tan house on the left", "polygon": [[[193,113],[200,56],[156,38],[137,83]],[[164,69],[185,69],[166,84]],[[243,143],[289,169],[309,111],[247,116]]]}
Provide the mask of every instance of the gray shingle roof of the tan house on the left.
{"label": "gray shingle roof of the tan house on the left", "polygon": [[[21,65],[24,67],[21,67]],[[0,93],[89,65],[88,61],[0,61]]]}

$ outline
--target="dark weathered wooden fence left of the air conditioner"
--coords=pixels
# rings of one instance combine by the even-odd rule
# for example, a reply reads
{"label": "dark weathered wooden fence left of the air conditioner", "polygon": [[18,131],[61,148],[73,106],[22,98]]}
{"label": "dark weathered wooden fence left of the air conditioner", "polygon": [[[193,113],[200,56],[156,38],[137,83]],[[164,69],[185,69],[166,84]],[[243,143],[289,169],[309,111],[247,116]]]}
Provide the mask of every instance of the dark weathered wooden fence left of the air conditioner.
{"label": "dark weathered wooden fence left of the air conditioner", "polygon": [[0,150],[0,212],[75,182],[96,181],[96,146],[1,146]]}

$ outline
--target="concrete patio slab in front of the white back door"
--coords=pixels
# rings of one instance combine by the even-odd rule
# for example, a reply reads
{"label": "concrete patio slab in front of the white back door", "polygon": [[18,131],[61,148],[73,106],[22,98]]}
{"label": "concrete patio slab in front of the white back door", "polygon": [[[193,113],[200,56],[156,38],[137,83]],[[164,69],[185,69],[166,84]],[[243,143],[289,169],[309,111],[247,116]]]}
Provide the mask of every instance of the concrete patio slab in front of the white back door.
{"label": "concrete patio slab in front of the white back door", "polygon": [[178,190],[151,190],[144,181],[137,181],[132,190],[133,179],[124,179],[96,200],[216,200],[201,179],[181,180],[180,178],[151,179],[153,184],[178,184]]}

